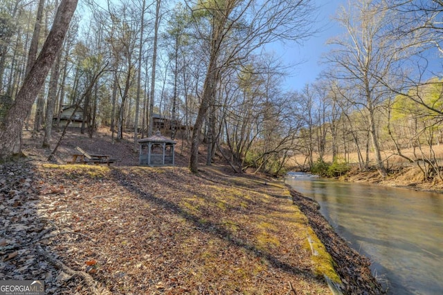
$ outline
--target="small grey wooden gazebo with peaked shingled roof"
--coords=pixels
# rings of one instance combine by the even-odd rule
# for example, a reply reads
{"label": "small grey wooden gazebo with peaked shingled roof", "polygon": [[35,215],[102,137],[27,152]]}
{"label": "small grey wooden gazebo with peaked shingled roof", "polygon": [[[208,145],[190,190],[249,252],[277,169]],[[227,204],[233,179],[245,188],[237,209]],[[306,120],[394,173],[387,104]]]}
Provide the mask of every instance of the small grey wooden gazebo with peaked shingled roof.
{"label": "small grey wooden gazebo with peaked shingled roof", "polygon": [[140,155],[138,164],[141,166],[174,165],[174,140],[161,135],[156,131],[151,137],[138,140]]}

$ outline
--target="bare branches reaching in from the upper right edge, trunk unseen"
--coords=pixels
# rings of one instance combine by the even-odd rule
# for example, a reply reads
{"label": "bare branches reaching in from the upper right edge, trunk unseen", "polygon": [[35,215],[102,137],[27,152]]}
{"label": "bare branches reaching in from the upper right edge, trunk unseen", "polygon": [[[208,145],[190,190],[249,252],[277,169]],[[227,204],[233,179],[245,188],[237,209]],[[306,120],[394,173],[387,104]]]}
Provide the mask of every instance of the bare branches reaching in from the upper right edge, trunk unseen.
{"label": "bare branches reaching in from the upper right edge, trunk unseen", "polygon": [[397,71],[396,83],[386,83],[386,86],[396,95],[441,116],[442,109],[429,103],[422,89],[440,84],[439,80],[430,78],[439,77],[441,72],[435,53],[443,55],[443,3],[441,0],[393,0],[389,5],[390,10],[401,16],[392,22],[389,34],[400,40],[396,50],[402,53],[404,67]]}

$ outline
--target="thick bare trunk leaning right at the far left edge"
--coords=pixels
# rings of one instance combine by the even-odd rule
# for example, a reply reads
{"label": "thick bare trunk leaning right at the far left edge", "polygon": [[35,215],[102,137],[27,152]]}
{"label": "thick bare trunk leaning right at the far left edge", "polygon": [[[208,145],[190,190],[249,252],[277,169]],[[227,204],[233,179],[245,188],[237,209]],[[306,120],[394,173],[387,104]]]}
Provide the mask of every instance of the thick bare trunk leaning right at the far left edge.
{"label": "thick bare trunk leaning right at the far left edge", "polygon": [[51,32],[43,45],[42,51],[37,57],[24,84],[21,86],[14,103],[0,125],[0,160],[8,160],[15,153],[20,153],[21,146],[17,145],[17,137],[21,132],[26,116],[33,106],[35,97],[44,84],[57,52],[63,45],[63,39],[69,28],[69,23],[77,8],[78,0],[62,0],[53,21]]}

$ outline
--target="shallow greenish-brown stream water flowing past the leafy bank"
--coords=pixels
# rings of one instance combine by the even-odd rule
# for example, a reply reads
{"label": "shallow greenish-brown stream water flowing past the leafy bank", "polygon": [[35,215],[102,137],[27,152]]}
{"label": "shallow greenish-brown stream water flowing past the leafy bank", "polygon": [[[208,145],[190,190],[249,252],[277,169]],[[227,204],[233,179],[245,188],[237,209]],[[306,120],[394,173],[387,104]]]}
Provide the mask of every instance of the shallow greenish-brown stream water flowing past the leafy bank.
{"label": "shallow greenish-brown stream water flowing past the leafy bank", "polygon": [[288,173],[337,234],[372,261],[388,294],[443,294],[443,194]]}

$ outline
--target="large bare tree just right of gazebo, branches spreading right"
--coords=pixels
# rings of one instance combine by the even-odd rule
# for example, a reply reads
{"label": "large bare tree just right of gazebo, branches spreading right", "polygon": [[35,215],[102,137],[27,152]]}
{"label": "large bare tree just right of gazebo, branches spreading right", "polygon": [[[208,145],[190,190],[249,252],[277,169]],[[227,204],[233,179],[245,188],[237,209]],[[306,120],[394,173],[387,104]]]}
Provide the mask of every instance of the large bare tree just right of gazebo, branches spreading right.
{"label": "large bare tree just right of gazebo, branches spreading right", "polygon": [[[188,4],[190,5],[190,4]],[[236,66],[239,61],[264,44],[291,39],[300,41],[311,34],[311,1],[199,1],[192,6],[195,17],[208,18],[200,32],[208,32],[205,48],[208,61],[199,113],[192,131],[190,171],[198,169],[201,127],[215,97],[221,68]],[[196,21],[199,24],[199,21]]]}

